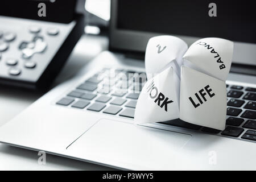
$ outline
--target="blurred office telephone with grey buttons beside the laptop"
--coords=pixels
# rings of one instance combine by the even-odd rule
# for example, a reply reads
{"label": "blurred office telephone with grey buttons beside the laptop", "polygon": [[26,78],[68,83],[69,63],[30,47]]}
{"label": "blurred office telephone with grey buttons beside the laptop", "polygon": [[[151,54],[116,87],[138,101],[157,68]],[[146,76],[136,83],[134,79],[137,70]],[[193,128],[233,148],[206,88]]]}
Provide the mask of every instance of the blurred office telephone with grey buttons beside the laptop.
{"label": "blurred office telephone with grey buttons beside the laptop", "polygon": [[45,90],[84,32],[76,1],[1,1],[0,84]]}

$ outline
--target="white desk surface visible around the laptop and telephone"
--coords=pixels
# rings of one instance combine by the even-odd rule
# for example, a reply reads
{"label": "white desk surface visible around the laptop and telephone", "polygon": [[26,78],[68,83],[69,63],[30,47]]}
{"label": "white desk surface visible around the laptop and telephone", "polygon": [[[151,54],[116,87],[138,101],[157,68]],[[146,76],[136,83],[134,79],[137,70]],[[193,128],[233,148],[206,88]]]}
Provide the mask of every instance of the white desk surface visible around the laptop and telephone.
{"label": "white desk surface visible around the laptop and telephone", "polygon": [[[84,35],[77,43],[65,67],[53,86],[65,81],[78,72],[98,53],[108,48],[108,39],[103,36]],[[42,93],[0,86],[0,126],[10,121],[27,106],[37,100]],[[103,166],[46,155],[46,164],[38,164],[38,152],[0,144],[0,170],[111,170]]]}

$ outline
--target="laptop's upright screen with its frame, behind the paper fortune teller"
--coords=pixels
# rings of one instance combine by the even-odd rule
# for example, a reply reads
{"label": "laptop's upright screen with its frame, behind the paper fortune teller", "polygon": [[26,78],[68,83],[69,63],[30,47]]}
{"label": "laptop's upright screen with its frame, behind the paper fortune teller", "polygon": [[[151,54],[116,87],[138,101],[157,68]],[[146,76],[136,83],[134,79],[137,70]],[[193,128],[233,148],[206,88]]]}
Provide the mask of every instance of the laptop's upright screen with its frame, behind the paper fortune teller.
{"label": "laptop's upright screen with its frame, behind the paper fortune teller", "polygon": [[256,66],[254,9],[252,0],[112,0],[109,48],[144,53],[148,39],[163,34],[188,46],[218,37],[234,42],[232,63]]}

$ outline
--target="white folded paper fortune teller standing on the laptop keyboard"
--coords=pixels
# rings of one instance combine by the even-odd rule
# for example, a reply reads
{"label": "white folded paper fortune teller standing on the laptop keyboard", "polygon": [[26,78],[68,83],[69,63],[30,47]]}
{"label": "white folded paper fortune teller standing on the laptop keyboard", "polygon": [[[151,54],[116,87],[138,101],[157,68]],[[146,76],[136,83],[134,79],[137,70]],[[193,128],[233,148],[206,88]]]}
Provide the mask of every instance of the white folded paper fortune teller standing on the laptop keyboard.
{"label": "white folded paper fortune teller standing on the laptop keyboard", "polygon": [[135,123],[180,118],[224,130],[232,56],[233,42],[225,39],[204,38],[188,48],[175,36],[151,38],[145,55],[148,81],[137,101]]}

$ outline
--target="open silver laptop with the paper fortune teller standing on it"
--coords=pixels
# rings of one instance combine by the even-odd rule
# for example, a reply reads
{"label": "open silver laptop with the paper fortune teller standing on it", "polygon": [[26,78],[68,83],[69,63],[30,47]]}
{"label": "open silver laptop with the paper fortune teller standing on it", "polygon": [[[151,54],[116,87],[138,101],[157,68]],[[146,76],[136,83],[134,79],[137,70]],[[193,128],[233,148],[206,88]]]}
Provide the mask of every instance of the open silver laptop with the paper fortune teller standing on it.
{"label": "open silver laptop with the paper fortune teller standing on it", "polygon": [[[255,170],[254,6],[215,1],[212,17],[209,3],[113,0],[109,51],[3,125],[0,141],[117,169]],[[178,36],[188,46],[210,36],[234,42],[224,131],[178,119],[134,125],[146,80],[120,75],[145,72],[143,54],[156,35]]]}

